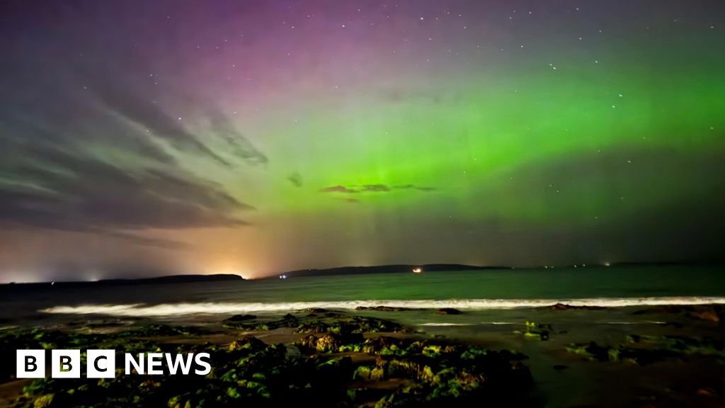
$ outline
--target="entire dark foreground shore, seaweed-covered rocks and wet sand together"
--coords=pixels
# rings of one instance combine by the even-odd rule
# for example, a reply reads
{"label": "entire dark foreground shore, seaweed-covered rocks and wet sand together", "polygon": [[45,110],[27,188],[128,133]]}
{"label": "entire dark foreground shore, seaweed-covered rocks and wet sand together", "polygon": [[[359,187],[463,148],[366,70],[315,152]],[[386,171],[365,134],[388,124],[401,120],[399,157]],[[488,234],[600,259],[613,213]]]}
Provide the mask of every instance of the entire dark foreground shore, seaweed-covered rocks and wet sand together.
{"label": "entire dark foreground shore, seaweed-covered rocks and wet sand together", "polygon": [[[725,402],[723,306],[559,304],[517,315],[522,318],[513,324],[476,326],[464,324],[481,320],[473,311],[381,305],[237,314],[183,325],[94,317],[11,327],[0,331],[4,356],[23,348],[71,348],[85,359],[89,348],[112,348],[118,371],[101,380],[84,374],[18,380],[14,362],[0,364],[0,407],[721,407]],[[425,316],[441,325],[401,323],[427,321]],[[207,352],[212,371],[123,373],[124,353],[152,351]]]}

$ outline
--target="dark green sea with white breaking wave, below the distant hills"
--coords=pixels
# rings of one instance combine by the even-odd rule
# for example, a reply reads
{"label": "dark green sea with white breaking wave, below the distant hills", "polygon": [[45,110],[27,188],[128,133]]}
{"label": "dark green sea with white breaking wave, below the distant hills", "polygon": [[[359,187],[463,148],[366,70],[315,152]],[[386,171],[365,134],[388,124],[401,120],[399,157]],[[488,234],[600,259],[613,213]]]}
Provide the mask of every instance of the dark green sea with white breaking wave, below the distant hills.
{"label": "dark green sea with white breaking wave, below the distant hills", "polygon": [[[280,314],[308,307],[355,309],[386,305],[476,311],[477,316],[489,315],[494,324],[496,317],[511,314],[510,311],[558,302],[623,307],[725,303],[724,269],[723,266],[598,266],[107,287],[45,285],[14,289],[6,286],[0,292],[0,318],[18,321],[91,314],[215,318],[237,313]],[[418,324],[445,325],[446,322]]]}

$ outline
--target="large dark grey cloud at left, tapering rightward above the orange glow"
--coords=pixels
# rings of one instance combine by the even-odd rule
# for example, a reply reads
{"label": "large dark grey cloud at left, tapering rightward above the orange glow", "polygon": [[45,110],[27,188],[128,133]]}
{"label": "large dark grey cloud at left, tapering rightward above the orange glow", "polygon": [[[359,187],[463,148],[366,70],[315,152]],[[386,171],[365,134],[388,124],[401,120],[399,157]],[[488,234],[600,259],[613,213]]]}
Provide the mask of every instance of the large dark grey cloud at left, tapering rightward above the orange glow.
{"label": "large dark grey cloud at left, tapering rightward above the orange glow", "polygon": [[[4,144],[16,147],[8,140]],[[24,155],[0,155],[0,221],[30,227],[103,232],[136,242],[118,230],[233,227],[251,207],[220,185],[179,169],[122,168],[94,155],[49,145],[22,146]],[[148,241],[149,243],[151,241]]]}

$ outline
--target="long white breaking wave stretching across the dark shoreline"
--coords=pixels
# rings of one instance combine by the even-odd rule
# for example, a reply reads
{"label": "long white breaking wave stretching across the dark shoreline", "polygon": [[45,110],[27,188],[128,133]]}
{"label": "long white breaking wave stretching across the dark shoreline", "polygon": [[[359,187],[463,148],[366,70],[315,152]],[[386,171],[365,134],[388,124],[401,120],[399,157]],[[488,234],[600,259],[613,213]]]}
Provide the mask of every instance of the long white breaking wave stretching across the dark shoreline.
{"label": "long white breaking wave stretching across the dark shoreline", "polygon": [[282,312],[309,308],[355,309],[359,306],[391,306],[410,309],[526,309],[565,303],[570,306],[687,306],[722,304],[725,298],[718,297],[653,297],[653,298],[584,298],[584,299],[451,299],[445,301],[318,301],[279,303],[162,303],[162,304],[93,304],[80,306],[54,306],[41,309],[51,314],[106,314],[123,317],[162,317],[191,314],[239,314],[247,312]]}

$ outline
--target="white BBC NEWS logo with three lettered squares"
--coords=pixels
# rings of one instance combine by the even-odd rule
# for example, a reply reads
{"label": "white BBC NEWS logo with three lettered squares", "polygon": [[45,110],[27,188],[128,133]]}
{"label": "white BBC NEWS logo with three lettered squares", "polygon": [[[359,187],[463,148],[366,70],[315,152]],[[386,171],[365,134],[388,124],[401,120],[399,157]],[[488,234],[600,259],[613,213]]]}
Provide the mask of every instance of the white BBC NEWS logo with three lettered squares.
{"label": "white BBC NEWS logo with three lettered squares", "polygon": [[[45,378],[45,350],[17,350],[16,378]],[[170,375],[207,375],[212,371],[209,353],[124,354],[126,375],[163,375],[164,363]],[[80,350],[51,350],[51,378],[80,378]],[[191,370],[194,368],[194,370]],[[133,369],[133,370],[132,370]],[[144,370],[145,369],[145,370]],[[110,349],[86,351],[86,378],[115,378],[116,351]]]}

